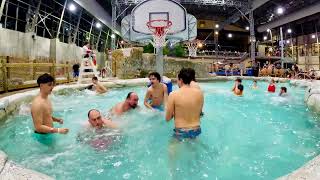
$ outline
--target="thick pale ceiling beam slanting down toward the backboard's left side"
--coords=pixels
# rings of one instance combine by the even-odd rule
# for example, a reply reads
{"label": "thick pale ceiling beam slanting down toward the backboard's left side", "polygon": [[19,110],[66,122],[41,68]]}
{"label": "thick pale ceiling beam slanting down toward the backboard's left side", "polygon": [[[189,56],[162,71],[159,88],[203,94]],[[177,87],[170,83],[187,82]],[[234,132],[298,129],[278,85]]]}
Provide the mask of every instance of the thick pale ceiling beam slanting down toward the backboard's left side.
{"label": "thick pale ceiling beam slanting down toward the backboard's left side", "polygon": [[74,0],[83,9],[92,14],[97,20],[108,26],[116,34],[120,35],[120,26],[117,24],[116,28],[112,28],[112,17],[111,15],[103,9],[103,7],[96,0]]}

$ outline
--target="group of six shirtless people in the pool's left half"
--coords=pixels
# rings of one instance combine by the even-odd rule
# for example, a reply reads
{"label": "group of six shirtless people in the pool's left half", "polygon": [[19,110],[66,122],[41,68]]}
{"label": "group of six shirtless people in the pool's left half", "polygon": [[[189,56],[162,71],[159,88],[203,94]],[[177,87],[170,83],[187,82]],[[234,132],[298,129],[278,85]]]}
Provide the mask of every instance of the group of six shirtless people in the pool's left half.
{"label": "group of six shirtless people in the pool's left half", "polygon": [[[93,78],[92,89],[96,92],[107,92],[98,79]],[[157,72],[149,74],[151,86],[148,88],[144,105],[155,111],[165,111],[166,121],[174,119],[173,136],[177,139],[195,138],[201,134],[200,116],[204,103],[203,92],[195,81],[195,71],[191,68],[182,68],[178,74],[178,90],[168,95],[167,86],[161,82],[161,76]],[[68,128],[55,128],[53,122],[63,124],[63,120],[52,116],[52,105],[48,98],[54,86],[55,79],[49,74],[41,75],[37,83],[40,87],[39,94],[32,101],[31,115],[35,133],[37,134],[67,134]],[[188,98],[189,97],[189,98]],[[190,98],[192,97],[192,98]],[[120,116],[138,107],[139,97],[135,92],[128,93],[123,102],[116,104],[110,113]],[[117,120],[103,117],[97,109],[88,111],[88,126],[96,129],[103,127],[118,128]]]}

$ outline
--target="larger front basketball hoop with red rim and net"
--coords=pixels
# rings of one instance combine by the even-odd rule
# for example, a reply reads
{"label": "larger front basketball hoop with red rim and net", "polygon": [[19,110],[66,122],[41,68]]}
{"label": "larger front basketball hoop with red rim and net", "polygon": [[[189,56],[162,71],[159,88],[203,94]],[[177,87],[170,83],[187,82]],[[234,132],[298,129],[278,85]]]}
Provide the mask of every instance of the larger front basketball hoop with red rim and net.
{"label": "larger front basketball hoop with red rim and net", "polygon": [[147,26],[152,32],[154,47],[159,48],[166,45],[166,36],[171,25],[171,21],[164,19],[151,20],[147,22]]}

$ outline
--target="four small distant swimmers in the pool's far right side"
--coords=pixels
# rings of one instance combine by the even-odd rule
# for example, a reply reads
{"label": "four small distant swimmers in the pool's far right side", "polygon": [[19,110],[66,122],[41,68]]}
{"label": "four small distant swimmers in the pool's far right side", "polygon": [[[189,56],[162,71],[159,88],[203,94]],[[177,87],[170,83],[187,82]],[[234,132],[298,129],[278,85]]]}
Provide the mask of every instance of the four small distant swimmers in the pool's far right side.
{"label": "four small distant swimmers in the pool's far right side", "polygon": [[[257,80],[253,80],[252,89],[258,89],[258,88],[259,87],[258,87]],[[244,87],[242,85],[241,79],[236,79],[235,83],[234,83],[234,86],[232,88],[233,93],[235,95],[237,95],[237,96],[242,96],[243,95],[243,90],[244,90]],[[268,90],[267,91],[269,93],[275,93],[276,92],[276,83],[275,83],[274,79],[271,79],[271,82],[268,85]],[[287,95],[288,95],[287,88],[284,87],[284,86],[281,87],[280,88],[280,92],[279,92],[279,96],[285,97]]]}

